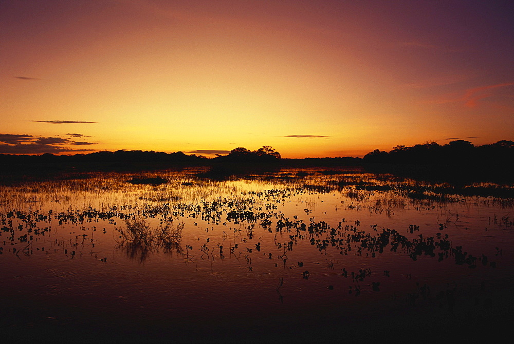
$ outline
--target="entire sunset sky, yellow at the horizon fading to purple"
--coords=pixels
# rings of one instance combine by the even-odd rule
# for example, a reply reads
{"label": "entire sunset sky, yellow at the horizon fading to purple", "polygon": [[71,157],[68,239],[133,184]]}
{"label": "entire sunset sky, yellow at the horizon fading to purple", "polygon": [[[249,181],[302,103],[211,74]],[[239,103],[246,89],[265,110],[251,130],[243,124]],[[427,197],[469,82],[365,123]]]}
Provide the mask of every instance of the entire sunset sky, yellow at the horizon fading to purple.
{"label": "entire sunset sky, yellow at the horizon fading to purple", "polygon": [[0,1],[0,153],[514,140],[509,1]]}

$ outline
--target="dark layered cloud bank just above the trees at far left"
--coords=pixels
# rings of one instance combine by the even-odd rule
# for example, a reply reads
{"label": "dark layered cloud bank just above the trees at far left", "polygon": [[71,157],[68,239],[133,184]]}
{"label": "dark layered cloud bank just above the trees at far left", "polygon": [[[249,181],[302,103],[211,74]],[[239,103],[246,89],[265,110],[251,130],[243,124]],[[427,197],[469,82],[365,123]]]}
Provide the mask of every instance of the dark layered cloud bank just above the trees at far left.
{"label": "dark layered cloud bank just above the trees at far left", "polygon": [[0,154],[42,154],[91,151],[94,149],[69,148],[98,143],[77,142],[59,137],[34,137],[32,135],[0,134]]}

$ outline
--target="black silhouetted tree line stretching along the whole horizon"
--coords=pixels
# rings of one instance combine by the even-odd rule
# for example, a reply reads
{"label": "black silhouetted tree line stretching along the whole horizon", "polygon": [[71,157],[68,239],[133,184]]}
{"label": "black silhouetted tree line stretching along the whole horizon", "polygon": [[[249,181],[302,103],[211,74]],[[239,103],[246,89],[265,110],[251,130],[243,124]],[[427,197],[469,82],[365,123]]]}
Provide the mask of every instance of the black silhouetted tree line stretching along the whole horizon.
{"label": "black silhouetted tree line stretching along the whole horizon", "polygon": [[187,155],[181,151],[166,153],[141,150],[98,151],[75,155],[11,155],[0,154],[0,163],[9,164],[171,164],[171,165],[210,165],[211,163],[255,163],[287,164],[296,161],[302,165],[340,165],[360,163],[411,164],[411,165],[513,165],[514,141],[502,140],[487,145],[473,145],[469,141],[455,140],[440,145],[436,142],[416,144],[412,147],[399,145],[390,151],[375,149],[363,159],[352,157],[282,159],[280,153],[271,146],[256,150],[244,147],[232,149],[228,155],[218,155],[207,159],[199,155]]}

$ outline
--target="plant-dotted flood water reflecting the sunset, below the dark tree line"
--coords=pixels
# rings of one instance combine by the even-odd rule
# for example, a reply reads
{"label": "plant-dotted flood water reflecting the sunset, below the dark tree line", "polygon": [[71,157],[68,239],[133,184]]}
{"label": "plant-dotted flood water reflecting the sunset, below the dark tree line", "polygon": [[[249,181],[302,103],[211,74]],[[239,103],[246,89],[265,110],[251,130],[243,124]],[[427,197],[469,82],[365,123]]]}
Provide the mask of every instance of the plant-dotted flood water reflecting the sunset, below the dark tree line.
{"label": "plant-dotted flood water reflecting the sunset, below the dark tree line", "polygon": [[[199,172],[2,186],[3,330],[21,340],[365,342],[449,323],[469,331],[512,310],[509,185]],[[150,177],[167,182],[133,179]]]}

